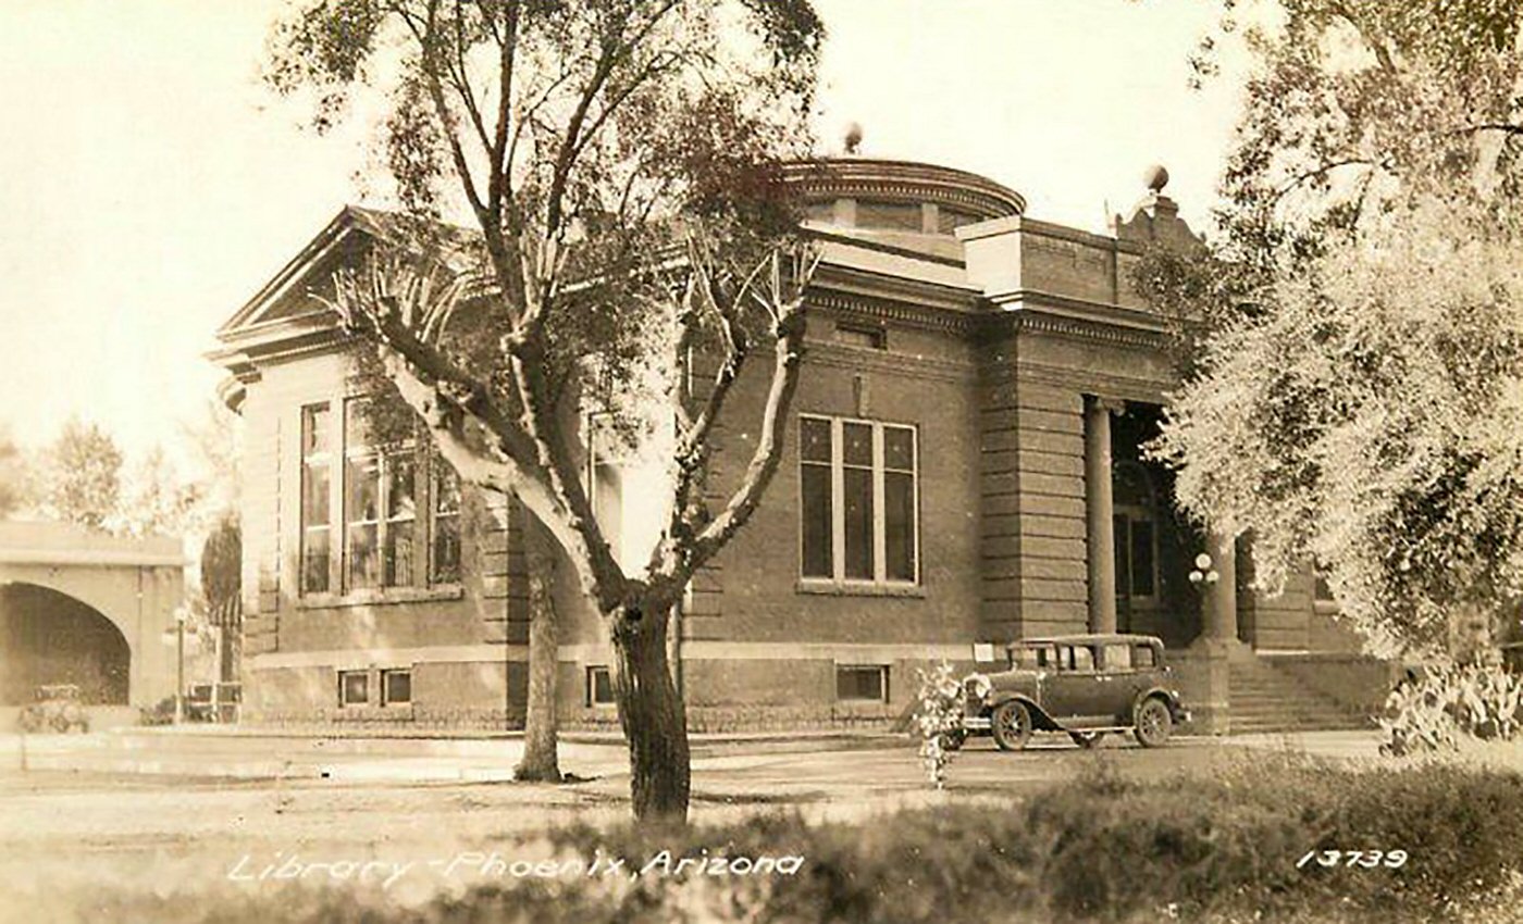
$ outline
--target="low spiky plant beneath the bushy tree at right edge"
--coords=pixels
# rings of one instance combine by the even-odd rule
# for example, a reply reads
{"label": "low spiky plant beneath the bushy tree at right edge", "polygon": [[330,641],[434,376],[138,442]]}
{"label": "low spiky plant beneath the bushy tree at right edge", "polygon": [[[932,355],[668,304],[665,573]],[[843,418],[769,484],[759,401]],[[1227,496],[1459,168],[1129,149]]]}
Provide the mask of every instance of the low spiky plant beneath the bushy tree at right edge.
{"label": "low spiky plant beneath the bushy tree at right edge", "polygon": [[1403,682],[1378,717],[1394,755],[1454,750],[1465,737],[1514,740],[1523,723],[1523,677],[1494,664],[1439,665]]}

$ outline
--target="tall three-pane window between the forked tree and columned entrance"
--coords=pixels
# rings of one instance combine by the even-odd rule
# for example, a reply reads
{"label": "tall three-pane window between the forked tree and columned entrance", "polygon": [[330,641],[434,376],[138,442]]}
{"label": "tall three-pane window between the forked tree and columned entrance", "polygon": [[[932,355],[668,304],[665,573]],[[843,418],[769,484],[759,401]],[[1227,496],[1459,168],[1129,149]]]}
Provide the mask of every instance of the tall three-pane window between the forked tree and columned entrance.
{"label": "tall three-pane window between the forked tree and columned entrance", "polygon": [[915,583],[915,429],[800,419],[801,560],[806,578]]}

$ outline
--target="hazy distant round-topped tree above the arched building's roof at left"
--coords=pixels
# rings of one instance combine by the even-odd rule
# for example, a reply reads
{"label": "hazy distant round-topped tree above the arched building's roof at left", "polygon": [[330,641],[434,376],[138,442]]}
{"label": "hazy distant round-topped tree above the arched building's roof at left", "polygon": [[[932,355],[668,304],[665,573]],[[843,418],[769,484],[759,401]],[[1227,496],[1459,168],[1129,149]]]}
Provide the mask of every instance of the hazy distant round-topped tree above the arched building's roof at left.
{"label": "hazy distant round-topped tree above the arched building's roof at left", "polygon": [[40,480],[49,513],[108,530],[122,501],[122,451],[99,425],[70,417],[43,454]]}

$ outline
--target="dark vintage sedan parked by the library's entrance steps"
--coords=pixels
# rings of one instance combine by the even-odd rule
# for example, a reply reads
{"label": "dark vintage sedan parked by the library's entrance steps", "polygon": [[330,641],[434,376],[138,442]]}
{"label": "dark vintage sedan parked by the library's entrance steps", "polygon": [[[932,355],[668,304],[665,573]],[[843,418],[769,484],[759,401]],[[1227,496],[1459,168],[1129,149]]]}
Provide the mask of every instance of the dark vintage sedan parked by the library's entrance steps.
{"label": "dark vintage sedan parked by the library's entrance steps", "polygon": [[1144,747],[1159,747],[1176,723],[1189,720],[1164,642],[1151,635],[1023,639],[1007,652],[1008,670],[963,682],[961,737],[993,735],[1002,750],[1020,750],[1037,731],[1066,732],[1083,747],[1106,732],[1130,731]]}

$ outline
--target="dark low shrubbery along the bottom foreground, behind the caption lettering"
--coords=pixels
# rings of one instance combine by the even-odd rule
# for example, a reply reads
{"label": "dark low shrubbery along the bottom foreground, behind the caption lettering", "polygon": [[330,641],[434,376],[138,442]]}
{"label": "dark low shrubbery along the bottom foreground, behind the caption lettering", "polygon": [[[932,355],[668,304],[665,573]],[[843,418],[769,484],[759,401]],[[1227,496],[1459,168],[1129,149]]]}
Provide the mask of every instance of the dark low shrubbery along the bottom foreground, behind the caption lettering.
{"label": "dark low shrubbery along the bottom foreground, behind the caption lettering", "polygon": [[[1365,772],[1260,754],[1141,781],[1098,758],[1022,801],[900,810],[867,822],[798,814],[650,831],[577,825],[504,855],[801,855],[795,875],[574,877],[487,883],[417,909],[352,891],[224,889],[91,910],[154,921],[1470,921],[1515,894],[1523,778],[1442,764]],[[1400,868],[1298,868],[1313,849],[1404,849]],[[263,886],[263,884],[262,884]],[[1497,919],[1497,918],[1489,918]],[[1503,918],[1505,919],[1505,918]]]}

